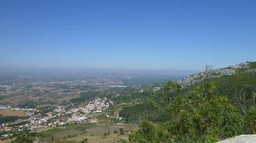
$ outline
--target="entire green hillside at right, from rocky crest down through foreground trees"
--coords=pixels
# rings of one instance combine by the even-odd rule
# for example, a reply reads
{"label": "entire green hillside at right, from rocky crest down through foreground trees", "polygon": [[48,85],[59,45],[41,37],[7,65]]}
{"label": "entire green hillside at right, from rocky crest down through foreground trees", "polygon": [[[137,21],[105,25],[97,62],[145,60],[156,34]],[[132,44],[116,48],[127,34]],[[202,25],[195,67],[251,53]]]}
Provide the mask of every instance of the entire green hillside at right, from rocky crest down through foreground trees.
{"label": "entire green hillside at right, from rocky crest down through foreground trees", "polygon": [[149,120],[129,135],[130,142],[219,142],[235,136],[223,142],[254,142],[239,135],[256,134],[256,62],[207,68],[178,82],[182,86],[170,81],[147,96],[142,113],[134,113],[139,105],[122,110],[124,118],[141,120],[144,113]]}

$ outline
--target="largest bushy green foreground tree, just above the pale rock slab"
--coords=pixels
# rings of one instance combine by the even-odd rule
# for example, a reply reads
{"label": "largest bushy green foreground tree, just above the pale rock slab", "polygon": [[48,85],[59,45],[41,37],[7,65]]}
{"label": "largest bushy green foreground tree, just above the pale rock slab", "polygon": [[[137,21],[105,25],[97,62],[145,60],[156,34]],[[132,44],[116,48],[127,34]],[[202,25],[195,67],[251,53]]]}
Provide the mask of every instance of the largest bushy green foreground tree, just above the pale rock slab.
{"label": "largest bushy green foreground tree, just above the pale rock slab", "polygon": [[[212,142],[242,133],[242,116],[214,84],[203,85],[197,98],[177,96],[170,106],[169,132],[176,142]],[[211,140],[211,141],[209,141]]]}

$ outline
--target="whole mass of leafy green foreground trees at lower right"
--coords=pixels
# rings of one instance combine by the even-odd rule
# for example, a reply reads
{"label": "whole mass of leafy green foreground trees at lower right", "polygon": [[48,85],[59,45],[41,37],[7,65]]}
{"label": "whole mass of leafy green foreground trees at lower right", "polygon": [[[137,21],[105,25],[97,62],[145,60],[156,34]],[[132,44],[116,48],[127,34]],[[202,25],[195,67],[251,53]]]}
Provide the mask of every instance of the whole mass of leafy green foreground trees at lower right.
{"label": "whole mass of leafy green foreground trees at lower right", "polygon": [[[170,85],[175,84],[167,83],[165,87]],[[165,100],[154,104],[168,110],[171,118],[156,125],[145,120],[137,132],[129,135],[130,142],[217,142],[244,132],[255,133],[255,108],[243,114],[228,96],[218,95],[218,86],[213,82],[194,86],[183,95],[172,94],[179,88],[162,90],[158,97]]]}

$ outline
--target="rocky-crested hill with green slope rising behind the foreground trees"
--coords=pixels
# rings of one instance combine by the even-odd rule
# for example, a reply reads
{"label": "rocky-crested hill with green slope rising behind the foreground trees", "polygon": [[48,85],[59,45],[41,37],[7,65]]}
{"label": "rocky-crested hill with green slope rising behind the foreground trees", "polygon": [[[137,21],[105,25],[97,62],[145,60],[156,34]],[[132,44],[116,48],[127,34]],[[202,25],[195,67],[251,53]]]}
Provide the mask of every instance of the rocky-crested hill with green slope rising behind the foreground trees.
{"label": "rocky-crested hill with green slope rising behind the foreground trees", "polygon": [[196,86],[213,82],[218,96],[228,96],[236,107],[246,113],[251,105],[256,104],[256,62],[242,62],[235,66],[206,71],[186,76],[179,80],[183,90],[181,94],[193,91]]}

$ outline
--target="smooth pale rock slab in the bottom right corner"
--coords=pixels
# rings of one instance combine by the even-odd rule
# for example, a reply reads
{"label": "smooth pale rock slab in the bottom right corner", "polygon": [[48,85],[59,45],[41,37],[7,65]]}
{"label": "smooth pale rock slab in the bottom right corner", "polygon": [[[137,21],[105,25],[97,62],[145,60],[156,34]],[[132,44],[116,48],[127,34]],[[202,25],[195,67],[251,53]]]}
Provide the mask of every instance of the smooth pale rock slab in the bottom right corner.
{"label": "smooth pale rock slab in the bottom right corner", "polygon": [[256,143],[256,135],[240,135],[217,143]]}

